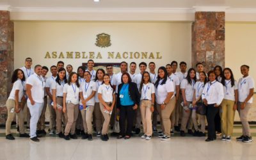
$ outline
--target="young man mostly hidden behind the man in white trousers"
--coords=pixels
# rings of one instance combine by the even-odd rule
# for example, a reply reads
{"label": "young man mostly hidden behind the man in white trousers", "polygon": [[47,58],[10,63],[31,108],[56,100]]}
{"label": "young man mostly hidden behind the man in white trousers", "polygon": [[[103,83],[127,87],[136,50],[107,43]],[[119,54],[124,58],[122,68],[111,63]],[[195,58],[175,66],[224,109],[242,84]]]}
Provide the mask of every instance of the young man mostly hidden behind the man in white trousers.
{"label": "young man mostly hidden behind the man in white trousers", "polygon": [[[46,83],[47,77],[45,77],[45,76],[46,76],[48,71],[49,71],[49,69],[46,66],[42,67],[42,74],[41,75],[44,79],[44,83]],[[43,106],[40,118],[38,120],[38,123],[37,123],[36,135],[45,136],[45,134],[46,134],[46,132],[44,130],[45,129],[45,111],[46,111],[46,107],[47,107],[47,94],[45,92],[44,93],[44,106]]]}

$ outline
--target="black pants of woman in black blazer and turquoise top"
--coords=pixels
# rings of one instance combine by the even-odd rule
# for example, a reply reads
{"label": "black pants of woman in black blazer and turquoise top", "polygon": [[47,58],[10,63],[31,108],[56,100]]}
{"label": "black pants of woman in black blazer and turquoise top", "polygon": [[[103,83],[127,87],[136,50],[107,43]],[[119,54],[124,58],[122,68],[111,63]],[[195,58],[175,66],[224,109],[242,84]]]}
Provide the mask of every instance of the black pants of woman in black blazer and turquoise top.
{"label": "black pants of woman in black blazer and turquoise top", "polygon": [[[132,125],[133,118],[135,115],[135,110],[132,109],[132,106],[121,106],[120,107],[120,135],[122,136],[131,136],[132,135]],[[127,119],[127,129],[125,132],[125,120]]]}

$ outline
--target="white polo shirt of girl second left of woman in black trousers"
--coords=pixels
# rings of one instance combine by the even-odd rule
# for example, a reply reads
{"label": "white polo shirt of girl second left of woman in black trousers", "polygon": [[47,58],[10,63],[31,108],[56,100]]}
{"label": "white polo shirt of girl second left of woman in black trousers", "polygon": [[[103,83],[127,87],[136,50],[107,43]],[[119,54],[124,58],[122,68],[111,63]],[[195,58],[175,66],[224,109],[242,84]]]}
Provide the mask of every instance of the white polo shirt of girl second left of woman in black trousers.
{"label": "white polo shirt of girl second left of woman in black trousers", "polygon": [[189,84],[187,79],[183,79],[180,84],[180,89],[185,89],[186,100],[189,102],[193,101],[194,86],[194,80],[192,80],[191,84]]}

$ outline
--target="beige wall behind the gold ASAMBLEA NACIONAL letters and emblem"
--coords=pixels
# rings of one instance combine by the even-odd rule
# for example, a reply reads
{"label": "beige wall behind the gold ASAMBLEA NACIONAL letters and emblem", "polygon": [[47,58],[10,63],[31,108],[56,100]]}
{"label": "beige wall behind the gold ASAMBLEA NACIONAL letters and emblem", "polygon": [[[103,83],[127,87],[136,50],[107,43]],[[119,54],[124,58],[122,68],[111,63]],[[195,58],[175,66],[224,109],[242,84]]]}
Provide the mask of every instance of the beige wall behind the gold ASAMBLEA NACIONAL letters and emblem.
{"label": "beige wall behind the gold ASAMBLEA NACIONAL letters and emblem", "polygon": [[[76,68],[88,59],[45,59],[47,51],[101,52],[103,59],[95,62],[120,62],[125,59],[106,59],[111,52],[161,52],[161,60],[154,61],[157,67],[172,60],[191,64],[190,22],[56,22],[15,21],[15,68],[24,64],[26,57],[33,58],[33,64],[50,67],[58,60]],[[111,46],[95,46],[96,35],[111,35]],[[127,62],[142,60],[125,60]],[[138,72],[138,70],[137,70]]]}

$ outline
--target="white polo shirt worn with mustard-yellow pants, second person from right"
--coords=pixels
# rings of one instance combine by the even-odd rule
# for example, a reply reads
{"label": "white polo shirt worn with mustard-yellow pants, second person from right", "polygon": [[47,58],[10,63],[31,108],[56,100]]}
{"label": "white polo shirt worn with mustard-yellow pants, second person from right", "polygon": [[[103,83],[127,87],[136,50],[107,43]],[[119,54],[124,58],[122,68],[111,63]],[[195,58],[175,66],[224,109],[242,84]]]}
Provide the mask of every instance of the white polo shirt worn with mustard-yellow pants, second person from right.
{"label": "white polo shirt worn with mustard-yellow pants, second person from right", "polygon": [[231,80],[225,79],[225,86],[223,86],[224,99],[236,100],[235,90],[237,90],[237,81],[235,81],[234,86],[231,86]]}

